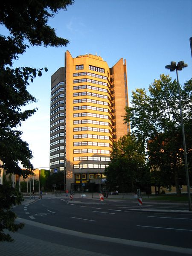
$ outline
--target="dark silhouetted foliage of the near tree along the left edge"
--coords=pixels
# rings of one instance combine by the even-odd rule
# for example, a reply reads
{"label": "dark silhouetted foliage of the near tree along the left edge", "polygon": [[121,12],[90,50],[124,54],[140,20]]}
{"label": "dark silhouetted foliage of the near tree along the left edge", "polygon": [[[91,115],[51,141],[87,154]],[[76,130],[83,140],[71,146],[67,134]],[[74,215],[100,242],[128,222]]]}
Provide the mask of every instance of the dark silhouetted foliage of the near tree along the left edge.
{"label": "dark silhouetted foliage of the near tree along the left edge", "polygon": [[[12,68],[13,62],[22,55],[29,46],[61,47],[69,41],[56,35],[55,29],[47,25],[60,9],[67,10],[73,0],[26,0],[0,2],[0,24],[5,26],[9,35],[0,35],[0,167],[6,173],[14,173],[27,177],[32,173],[30,163],[32,152],[27,142],[21,139],[18,130],[21,122],[34,114],[37,109],[21,111],[36,99],[28,91],[27,86],[36,76],[42,76],[42,70],[31,67]],[[47,71],[47,68],[44,68]],[[19,162],[25,167],[22,170]],[[9,211],[12,204],[21,203],[21,197],[11,188],[1,186],[0,197],[6,193],[6,206],[0,205],[0,241],[11,241],[3,234],[3,229],[16,231],[22,225],[14,224],[15,215]],[[15,201],[13,197],[16,196]],[[6,214],[8,217],[6,217]]]}

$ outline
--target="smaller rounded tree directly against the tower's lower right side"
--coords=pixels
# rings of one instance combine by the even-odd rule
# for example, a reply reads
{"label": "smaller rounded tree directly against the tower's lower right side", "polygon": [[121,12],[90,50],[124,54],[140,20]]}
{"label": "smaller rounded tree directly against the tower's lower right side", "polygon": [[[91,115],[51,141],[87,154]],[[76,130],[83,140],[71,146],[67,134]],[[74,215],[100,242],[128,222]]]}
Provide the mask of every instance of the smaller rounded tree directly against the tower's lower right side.
{"label": "smaller rounded tree directly against the tower's lower right side", "polygon": [[145,183],[146,165],[143,145],[134,135],[125,135],[113,143],[111,162],[105,168],[107,183],[120,191],[133,192]]}

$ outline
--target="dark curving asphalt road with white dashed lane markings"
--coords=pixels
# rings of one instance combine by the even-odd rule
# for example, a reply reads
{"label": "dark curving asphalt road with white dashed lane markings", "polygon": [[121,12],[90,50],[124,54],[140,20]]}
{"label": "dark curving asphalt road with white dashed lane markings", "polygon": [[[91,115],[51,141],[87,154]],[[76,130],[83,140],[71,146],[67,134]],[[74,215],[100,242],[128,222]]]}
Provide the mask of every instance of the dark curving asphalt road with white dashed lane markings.
{"label": "dark curving asphalt road with white dashed lane markings", "polygon": [[[151,212],[157,208],[158,212]],[[44,198],[14,211],[19,221],[26,220],[19,233],[40,241],[98,255],[185,255],[185,248],[192,248],[192,214],[166,209],[185,210],[186,206],[148,202],[139,207],[129,200]]]}

